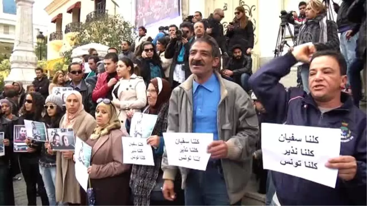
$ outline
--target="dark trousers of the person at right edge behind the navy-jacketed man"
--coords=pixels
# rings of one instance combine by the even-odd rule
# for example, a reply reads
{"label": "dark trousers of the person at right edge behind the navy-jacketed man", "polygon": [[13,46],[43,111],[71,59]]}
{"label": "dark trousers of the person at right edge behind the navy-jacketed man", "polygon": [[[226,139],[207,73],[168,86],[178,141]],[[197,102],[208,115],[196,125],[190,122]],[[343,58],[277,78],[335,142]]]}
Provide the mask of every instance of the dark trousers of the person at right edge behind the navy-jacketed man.
{"label": "dark trousers of the person at right edge behind the navy-jacketed man", "polygon": [[[361,71],[363,70],[363,60],[356,58],[349,66],[350,87],[353,94],[353,102],[359,107],[359,101],[362,99],[362,81]],[[365,83],[366,84],[366,83]]]}

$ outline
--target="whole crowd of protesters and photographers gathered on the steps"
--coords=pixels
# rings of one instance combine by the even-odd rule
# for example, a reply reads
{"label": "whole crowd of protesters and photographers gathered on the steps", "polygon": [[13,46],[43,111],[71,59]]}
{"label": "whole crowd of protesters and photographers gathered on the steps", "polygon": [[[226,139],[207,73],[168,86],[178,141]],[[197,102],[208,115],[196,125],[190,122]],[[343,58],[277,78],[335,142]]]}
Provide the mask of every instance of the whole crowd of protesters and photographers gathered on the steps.
{"label": "whole crowd of protesters and photographers gathered on the steps", "polygon": [[[326,18],[321,1],[299,3],[297,45],[254,74],[253,25],[237,7],[226,33],[223,10],[215,9],[207,19],[198,11],[179,26],[159,27],[155,38],[138,27],[135,41],[123,40],[120,51],[109,48],[103,59],[90,48],[82,63],[57,71],[51,82],[37,68],[26,90],[21,82],[4,85],[0,206],[15,205],[12,181],[20,173],[28,206],[36,205],[37,195],[43,206],[88,205],[88,194],[76,180],[73,151],[54,151],[48,141],[26,139],[27,152],[13,152],[13,125],[24,120],[73,129],[92,147],[88,173],[96,205],[239,206],[252,170],[266,205],[274,204],[275,194],[282,206],[364,205],[367,116],[357,107],[359,72],[366,67],[366,4],[343,0],[335,23]],[[299,85],[285,89],[279,80],[297,62],[304,63]],[[52,94],[55,87],[73,89],[65,103]],[[121,137],[128,136],[135,112],[157,115],[147,139],[155,166],[123,163]],[[326,165],[339,169],[335,188],[262,168],[261,123],[339,128],[341,121],[355,138],[341,143],[341,156]],[[164,132],[213,133],[206,170],[169,165]]]}

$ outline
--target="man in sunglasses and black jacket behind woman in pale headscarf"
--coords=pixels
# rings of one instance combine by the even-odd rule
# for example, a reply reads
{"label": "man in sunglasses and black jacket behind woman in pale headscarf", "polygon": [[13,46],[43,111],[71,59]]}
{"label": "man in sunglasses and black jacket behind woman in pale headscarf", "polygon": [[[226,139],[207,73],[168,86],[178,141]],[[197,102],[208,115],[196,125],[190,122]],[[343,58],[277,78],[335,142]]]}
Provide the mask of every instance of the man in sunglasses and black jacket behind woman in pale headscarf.
{"label": "man in sunglasses and black jacket behind woman in pale headscarf", "polygon": [[93,87],[84,81],[81,65],[77,62],[71,63],[68,67],[68,72],[71,81],[67,82],[65,87],[71,87],[73,90],[80,92],[84,110],[94,117],[96,105],[92,101]]}

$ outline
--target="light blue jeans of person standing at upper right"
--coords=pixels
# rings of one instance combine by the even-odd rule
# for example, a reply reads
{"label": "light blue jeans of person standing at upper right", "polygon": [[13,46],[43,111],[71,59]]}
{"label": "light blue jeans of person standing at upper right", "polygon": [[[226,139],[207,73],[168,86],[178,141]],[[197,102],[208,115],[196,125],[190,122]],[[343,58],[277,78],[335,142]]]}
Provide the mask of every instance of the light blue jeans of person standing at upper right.
{"label": "light blue jeans of person standing at upper right", "polygon": [[348,40],[346,38],[346,31],[340,34],[340,48],[341,53],[346,60],[348,85],[350,83],[350,65],[356,59],[356,47],[357,47],[358,33]]}

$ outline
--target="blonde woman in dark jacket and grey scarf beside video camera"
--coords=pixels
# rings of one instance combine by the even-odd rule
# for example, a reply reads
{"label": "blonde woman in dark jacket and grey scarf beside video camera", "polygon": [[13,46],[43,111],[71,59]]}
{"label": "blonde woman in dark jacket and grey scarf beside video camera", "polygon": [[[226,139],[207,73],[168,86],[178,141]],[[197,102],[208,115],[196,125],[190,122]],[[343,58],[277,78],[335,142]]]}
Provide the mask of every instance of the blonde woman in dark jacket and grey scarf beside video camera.
{"label": "blonde woman in dark jacket and grey scarf beside video camera", "polygon": [[[299,28],[297,45],[312,42],[316,50],[340,50],[337,23],[327,20],[326,7],[319,0],[310,0],[306,6],[306,22]],[[303,89],[308,89],[309,64],[301,66]]]}

